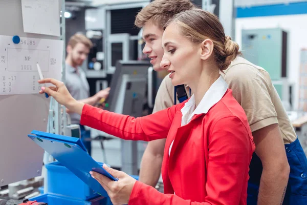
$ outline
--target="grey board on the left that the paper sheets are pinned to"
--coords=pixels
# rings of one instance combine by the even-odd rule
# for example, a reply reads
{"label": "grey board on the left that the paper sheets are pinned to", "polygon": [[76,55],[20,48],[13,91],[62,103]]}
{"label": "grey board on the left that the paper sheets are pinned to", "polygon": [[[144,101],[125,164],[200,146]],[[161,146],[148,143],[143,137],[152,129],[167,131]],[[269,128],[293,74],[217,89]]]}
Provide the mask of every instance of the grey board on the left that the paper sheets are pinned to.
{"label": "grey board on the left that the paper sheets are pinned to", "polygon": [[[20,0],[1,0],[0,19],[0,35],[59,39],[24,33]],[[27,135],[46,131],[49,100],[40,94],[0,95],[0,187],[41,175],[44,151]]]}

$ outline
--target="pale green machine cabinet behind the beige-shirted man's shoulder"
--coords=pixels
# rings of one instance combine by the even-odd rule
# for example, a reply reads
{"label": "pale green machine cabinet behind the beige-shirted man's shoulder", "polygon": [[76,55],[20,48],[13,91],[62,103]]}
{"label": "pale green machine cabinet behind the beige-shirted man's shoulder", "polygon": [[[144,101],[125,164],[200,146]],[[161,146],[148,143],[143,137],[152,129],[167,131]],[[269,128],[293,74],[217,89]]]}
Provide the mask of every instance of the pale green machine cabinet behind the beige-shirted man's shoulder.
{"label": "pale green machine cabinet behind the beige-shirted man's shoulder", "polygon": [[284,104],[292,105],[292,85],[288,81],[288,33],[281,28],[242,30],[242,54],[270,74]]}

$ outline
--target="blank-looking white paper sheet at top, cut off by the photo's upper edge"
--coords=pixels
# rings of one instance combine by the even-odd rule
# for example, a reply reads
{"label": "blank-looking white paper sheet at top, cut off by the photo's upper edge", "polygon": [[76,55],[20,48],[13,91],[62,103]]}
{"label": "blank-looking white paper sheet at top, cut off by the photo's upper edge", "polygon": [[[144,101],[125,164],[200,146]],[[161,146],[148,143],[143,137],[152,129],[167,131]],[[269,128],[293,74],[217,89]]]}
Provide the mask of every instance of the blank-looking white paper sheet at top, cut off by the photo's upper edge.
{"label": "blank-looking white paper sheet at top, cut off by the photo's upper edge", "polygon": [[21,0],[25,33],[60,36],[59,0]]}

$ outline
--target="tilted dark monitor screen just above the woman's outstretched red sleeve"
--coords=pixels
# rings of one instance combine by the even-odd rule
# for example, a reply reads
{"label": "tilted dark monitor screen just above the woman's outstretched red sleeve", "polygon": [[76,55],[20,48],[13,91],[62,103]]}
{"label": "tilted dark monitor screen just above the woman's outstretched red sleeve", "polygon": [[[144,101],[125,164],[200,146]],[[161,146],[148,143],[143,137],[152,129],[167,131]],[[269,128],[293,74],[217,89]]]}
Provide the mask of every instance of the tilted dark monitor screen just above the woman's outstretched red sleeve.
{"label": "tilted dark monitor screen just above the woman's outstretched red sleeve", "polygon": [[118,60],[111,80],[111,90],[105,101],[105,110],[141,116],[144,99],[147,98],[149,67],[147,61]]}

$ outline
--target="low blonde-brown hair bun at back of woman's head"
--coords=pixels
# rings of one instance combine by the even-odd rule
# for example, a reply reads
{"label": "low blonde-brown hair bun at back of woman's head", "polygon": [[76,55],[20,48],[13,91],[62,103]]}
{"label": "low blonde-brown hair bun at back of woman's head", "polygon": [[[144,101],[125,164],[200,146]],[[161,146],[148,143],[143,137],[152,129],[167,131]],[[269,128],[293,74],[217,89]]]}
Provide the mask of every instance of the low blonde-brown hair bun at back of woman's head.
{"label": "low blonde-brown hair bun at back of woman's head", "polygon": [[224,53],[226,55],[225,62],[221,70],[227,69],[231,61],[234,60],[236,56],[240,53],[239,45],[236,42],[233,42],[230,36],[225,37]]}

